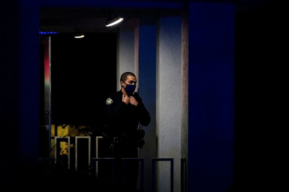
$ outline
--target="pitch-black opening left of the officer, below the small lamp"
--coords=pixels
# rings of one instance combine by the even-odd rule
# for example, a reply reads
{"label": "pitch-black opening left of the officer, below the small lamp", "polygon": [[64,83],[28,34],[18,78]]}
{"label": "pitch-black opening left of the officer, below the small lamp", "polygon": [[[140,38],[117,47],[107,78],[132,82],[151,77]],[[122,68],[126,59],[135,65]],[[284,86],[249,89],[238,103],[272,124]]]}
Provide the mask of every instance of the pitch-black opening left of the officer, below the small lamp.
{"label": "pitch-black opening left of the officer, below the small lamp", "polygon": [[51,124],[98,126],[115,82],[115,33],[51,37]]}

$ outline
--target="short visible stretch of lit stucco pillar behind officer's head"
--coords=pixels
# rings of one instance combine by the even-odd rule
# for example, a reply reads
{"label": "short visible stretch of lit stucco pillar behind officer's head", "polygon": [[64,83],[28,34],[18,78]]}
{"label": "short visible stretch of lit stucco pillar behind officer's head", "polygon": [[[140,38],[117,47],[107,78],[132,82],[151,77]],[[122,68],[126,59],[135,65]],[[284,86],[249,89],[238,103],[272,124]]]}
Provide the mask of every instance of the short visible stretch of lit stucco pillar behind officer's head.
{"label": "short visible stretch of lit stucco pillar behind officer's head", "polygon": [[[121,89],[120,78],[124,72],[135,74],[135,29],[119,28],[116,45],[116,91]],[[138,80],[138,75],[135,74]],[[138,85],[136,90],[138,89]]]}

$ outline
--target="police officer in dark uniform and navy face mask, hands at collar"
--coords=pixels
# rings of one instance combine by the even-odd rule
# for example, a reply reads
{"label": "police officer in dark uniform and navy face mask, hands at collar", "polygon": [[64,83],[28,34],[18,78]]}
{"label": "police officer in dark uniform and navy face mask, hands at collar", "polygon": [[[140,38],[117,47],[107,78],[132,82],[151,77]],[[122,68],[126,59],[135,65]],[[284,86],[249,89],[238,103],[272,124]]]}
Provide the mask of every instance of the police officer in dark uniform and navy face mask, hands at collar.
{"label": "police officer in dark uniform and navy face mask, hands at collar", "polygon": [[139,162],[125,161],[127,163],[122,169],[122,158],[138,158],[138,147],[142,148],[143,145],[138,137],[138,128],[148,126],[151,117],[135,92],[136,76],[125,72],[121,75],[120,83],[121,90],[110,94],[106,99],[107,123],[104,132],[111,142],[117,189],[121,186],[121,191],[136,191]]}

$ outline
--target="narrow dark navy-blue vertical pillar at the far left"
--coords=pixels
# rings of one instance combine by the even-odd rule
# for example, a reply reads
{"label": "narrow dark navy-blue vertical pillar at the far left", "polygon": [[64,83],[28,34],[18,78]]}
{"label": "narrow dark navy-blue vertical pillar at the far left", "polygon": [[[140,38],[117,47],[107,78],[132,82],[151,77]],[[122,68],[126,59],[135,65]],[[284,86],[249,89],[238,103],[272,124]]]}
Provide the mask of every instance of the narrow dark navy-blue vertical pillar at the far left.
{"label": "narrow dark navy-blue vertical pillar at the far left", "polygon": [[39,129],[39,18],[38,1],[20,1],[19,113],[20,159],[38,161]]}

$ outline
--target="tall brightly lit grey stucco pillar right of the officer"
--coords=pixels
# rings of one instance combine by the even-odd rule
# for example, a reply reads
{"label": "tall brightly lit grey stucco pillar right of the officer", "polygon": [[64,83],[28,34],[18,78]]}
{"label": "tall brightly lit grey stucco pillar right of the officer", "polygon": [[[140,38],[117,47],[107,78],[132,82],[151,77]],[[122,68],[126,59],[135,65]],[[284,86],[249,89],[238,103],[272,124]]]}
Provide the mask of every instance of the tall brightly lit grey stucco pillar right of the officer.
{"label": "tall brightly lit grey stucco pillar right of the officer", "polygon": [[[174,159],[174,191],[180,191],[181,16],[162,14],[157,35],[157,157]],[[170,162],[156,163],[157,191],[171,190]]]}

